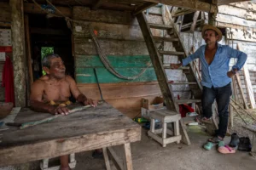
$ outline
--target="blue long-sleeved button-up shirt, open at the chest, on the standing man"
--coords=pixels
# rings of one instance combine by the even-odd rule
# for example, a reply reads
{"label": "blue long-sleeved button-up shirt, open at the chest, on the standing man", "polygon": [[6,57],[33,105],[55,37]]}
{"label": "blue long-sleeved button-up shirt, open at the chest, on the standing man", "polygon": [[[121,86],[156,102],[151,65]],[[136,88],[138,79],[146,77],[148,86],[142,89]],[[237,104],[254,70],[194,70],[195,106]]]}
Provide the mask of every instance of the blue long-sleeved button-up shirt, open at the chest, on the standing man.
{"label": "blue long-sleeved button-up shirt, open at the chest, on the standing man", "polygon": [[218,44],[216,54],[212,60],[211,65],[208,65],[205,59],[206,45],[202,45],[195,51],[195,54],[189,55],[188,58],[183,59],[183,66],[188,65],[193,59],[199,58],[201,60],[201,85],[207,88],[224,87],[231,82],[231,78],[227,76],[230,70],[229,64],[231,58],[236,58],[236,65],[232,69],[241,70],[242,65],[247,60],[247,54],[242,53],[228,45]]}

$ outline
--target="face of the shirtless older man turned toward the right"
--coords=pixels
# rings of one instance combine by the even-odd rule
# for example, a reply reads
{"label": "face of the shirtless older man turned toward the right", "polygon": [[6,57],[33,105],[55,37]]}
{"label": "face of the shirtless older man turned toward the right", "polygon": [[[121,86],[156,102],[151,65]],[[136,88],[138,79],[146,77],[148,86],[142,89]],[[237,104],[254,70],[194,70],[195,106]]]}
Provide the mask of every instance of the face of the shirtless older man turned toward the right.
{"label": "face of the shirtless older man turned toward the right", "polygon": [[63,64],[61,57],[52,58],[52,59],[49,59],[49,61],[50,61],[50,66],[49,66],[49,71],[47,71],[47,74],[57,79],[64,78],[66,67]]}

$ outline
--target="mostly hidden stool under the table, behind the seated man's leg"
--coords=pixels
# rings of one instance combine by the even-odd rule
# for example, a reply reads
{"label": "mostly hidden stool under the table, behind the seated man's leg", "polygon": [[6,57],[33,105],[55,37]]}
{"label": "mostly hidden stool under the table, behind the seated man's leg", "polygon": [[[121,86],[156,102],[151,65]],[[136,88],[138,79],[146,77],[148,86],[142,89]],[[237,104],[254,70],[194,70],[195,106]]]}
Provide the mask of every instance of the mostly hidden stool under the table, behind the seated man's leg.
{"label": "mostly hidden stool under the table, behind the seated man's leg", "polygon": [[[69,155],[69,167],[73,169],[76,167],[77,161],[75,160],[75,154]],[[61,166],[49,167],[49,158],[44,159],[43,162],[40,163],[41,170],[59,170]]]}

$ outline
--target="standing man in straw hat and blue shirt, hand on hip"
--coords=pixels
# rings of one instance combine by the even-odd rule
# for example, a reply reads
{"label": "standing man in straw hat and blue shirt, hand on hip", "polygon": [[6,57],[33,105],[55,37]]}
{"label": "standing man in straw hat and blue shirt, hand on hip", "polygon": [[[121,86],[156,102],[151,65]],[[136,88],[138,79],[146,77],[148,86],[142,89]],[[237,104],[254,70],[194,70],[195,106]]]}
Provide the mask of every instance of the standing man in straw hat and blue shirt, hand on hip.
{"label": "standing man in straw hat and blue shirt, hand on hip", "polygon": [[[231,78],[237,71],[241,70],[242,65],[247,60],[247,54],[236,49],[230,48],[228,45],[221,45],[218,42],[222,39],[222,32],[214,26],[204,26],[201,35],[206,45],[198,48],[195,54],[189,55],[183,59],[180,64],[171,64],[172,69],[177,69],[180,66],[188,65],[193,59],[201,60],[201,85],[202,91],[202,111],[203,120],[212,118],[212,104],[216,99],[218,105],[218,131],[216,136],[209,141],[218,143],[224,139],[229,122],[228,106],[230,105],[231,95]],[[230,70],[230,59],[236,58],[236,65]]]}

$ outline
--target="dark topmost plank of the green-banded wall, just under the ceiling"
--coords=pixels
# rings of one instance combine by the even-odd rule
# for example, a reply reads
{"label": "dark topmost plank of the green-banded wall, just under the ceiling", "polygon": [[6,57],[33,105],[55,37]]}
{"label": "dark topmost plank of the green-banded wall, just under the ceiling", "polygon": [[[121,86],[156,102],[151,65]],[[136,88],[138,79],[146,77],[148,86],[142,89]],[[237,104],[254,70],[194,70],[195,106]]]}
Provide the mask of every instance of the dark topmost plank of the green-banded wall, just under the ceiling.
{"label": "dark topmost plank of the green-banded wall, just under the ceiling", "polygon": [[137,25],[137,20],[128,11],[108,9],[90,10],[87,7],[73,7],[73,19],[113,24]]}

